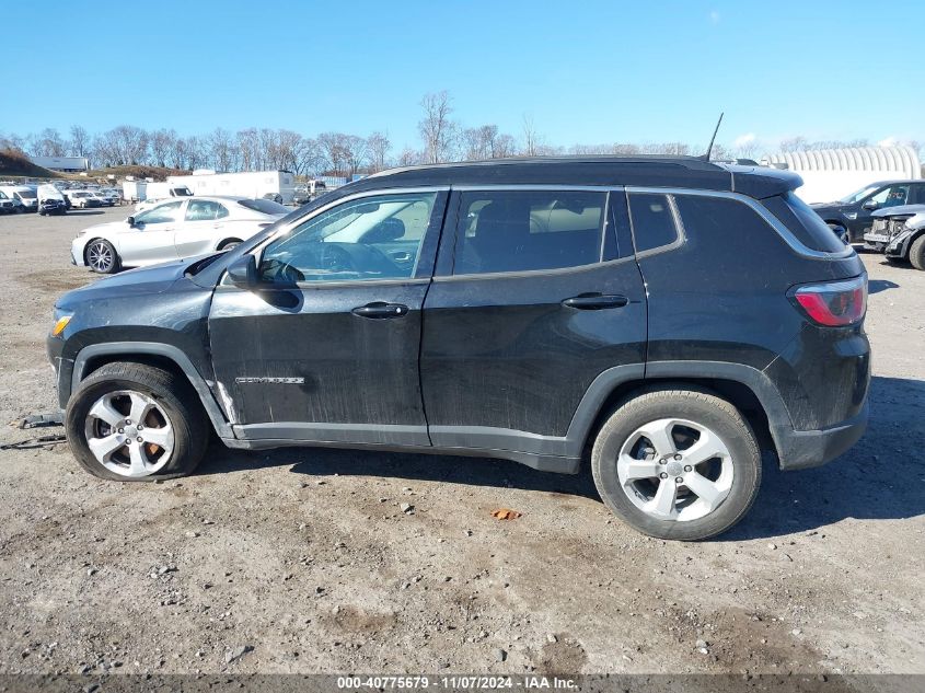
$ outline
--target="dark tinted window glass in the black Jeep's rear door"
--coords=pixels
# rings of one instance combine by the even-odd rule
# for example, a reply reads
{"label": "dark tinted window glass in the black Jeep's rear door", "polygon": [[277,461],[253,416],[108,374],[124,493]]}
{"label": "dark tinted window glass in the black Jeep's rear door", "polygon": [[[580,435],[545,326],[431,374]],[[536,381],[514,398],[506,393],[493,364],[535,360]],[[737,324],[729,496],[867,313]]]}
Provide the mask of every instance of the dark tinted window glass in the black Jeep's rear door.
{"label": "dark tinted window glass in the black Jeep's rear door", "polygon": [[601,261],[606,194],[482,190],[460,195],[453,274],[580,267]]}

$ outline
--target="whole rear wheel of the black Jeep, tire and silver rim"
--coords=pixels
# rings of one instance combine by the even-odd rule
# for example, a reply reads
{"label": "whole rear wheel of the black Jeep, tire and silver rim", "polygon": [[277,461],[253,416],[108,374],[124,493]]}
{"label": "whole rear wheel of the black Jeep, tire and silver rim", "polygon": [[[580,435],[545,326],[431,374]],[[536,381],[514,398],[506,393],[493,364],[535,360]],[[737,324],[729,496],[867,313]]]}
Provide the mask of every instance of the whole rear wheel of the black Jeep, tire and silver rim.
{"label": "whole rear wheel of the black Jeep, tire and silver rim", "polygon": [[755,435],[729,402],[702,390],[657,390],[625,402],[591,452],[604,504],[659,539],[720,534],[748,512],[761,484]]}

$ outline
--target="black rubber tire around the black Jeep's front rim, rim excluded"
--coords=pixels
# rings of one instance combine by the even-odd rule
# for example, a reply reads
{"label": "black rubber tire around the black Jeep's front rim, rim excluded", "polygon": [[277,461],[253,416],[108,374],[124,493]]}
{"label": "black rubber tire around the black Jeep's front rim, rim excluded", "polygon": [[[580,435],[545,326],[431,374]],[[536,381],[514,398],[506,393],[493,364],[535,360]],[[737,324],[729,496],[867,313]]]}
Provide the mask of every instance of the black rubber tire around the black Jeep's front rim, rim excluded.
{"label": "black rubber tire around the black Jeep's front rim, rim excluded", "polygon": [[[100,397],[119,391],[135,391],[157,402],[173,428],[174,447],[163,469],[150,476],[124,476],[104,466],[86,442],[88,414]],[[170,371],[141,363],[107,363],[93,371],[71,395],[65,414],[68,443],[80,465],[100,478],[120,482],[153,482],[185,476],[206,452],[212,429],[189,383]]]}

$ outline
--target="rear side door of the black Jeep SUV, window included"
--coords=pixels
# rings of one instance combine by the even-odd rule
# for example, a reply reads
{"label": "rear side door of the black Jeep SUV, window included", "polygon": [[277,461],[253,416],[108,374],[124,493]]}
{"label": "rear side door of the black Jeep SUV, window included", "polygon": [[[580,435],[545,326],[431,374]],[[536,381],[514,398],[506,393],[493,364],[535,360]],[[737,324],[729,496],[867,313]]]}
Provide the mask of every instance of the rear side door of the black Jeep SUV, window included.
{"label": "rear side door of the black Jeep SUV, window included", "polygon": [[644,368],[646,294],[623,190],[454,192],[421,345],[435,446],[580,453],[566,435],[591,383]]}

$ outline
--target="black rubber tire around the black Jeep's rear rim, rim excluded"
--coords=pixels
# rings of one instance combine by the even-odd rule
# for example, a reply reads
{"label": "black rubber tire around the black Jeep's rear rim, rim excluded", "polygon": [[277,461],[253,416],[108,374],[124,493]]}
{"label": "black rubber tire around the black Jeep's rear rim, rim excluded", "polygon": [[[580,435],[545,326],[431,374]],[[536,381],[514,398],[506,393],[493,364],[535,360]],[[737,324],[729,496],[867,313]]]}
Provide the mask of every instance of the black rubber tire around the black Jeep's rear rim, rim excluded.
{"label": "black rubber tire around the black Jeep's rear rim, rim excluded", "polygon": [[[698,519],[655,518],[629,499],[620,482],[616,460],[624,443],[639,427],[663,418],[705,426],[729,451],[732,482],[728,495]],[[751,426],[729,402],[706,390],[668,386],[634,396],[611,414],[594,440],[591,471],[601,499],[631,527],[659,539],[697,541],[721,534],[749,511],[761,485],[761,452]]]}

